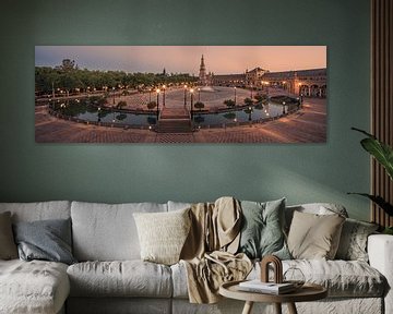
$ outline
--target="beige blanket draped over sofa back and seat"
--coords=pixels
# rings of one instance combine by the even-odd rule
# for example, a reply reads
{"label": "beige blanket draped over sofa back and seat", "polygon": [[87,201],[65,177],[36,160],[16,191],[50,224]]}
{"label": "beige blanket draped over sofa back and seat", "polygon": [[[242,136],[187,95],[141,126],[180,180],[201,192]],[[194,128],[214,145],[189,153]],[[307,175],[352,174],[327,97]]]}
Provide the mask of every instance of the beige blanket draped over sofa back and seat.
{"label": "beige blanket draped over sofa back and seat", "polygon": [[180,254],[188,275],[191,303],[218,302],[219,286],[242,280],[252,268],[243,253],[236,254],[241,228],[241,207],[233,197],[191,206],[191,230]]}

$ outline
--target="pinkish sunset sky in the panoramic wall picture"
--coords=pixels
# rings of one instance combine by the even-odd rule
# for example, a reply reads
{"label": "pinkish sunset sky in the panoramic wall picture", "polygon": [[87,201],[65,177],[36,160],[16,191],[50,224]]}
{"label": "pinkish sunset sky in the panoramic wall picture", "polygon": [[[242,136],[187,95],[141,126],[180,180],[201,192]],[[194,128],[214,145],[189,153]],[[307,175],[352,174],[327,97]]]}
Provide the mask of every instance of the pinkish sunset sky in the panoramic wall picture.
{"label": "pinkish sunset sky in the panoramic wall picture", "polygon": [[207,72],[242,73],[255,67],[271,72],[326,68],[326,46],[36,46],[35,65],[63,59],[81,69],[198,75],[201,56]]}

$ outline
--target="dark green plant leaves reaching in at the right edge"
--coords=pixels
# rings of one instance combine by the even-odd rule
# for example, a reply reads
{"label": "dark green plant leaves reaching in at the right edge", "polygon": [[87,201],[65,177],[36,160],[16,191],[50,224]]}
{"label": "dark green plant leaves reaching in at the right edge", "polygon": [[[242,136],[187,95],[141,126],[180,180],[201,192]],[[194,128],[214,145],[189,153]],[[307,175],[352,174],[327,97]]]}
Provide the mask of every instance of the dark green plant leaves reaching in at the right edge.
{"label": "dark green plant leaves reaching in at the right edge", "polygon": [[[355,130],[357,132],[367,135],[366,138],[360,141],[361,146],[365,148],[365,150],[371,154],[371,156],[373,156],[378,162],[382,165],[390,179],[393,180],[393,148],[390,147],[388,144],[382,143],[374,135],[367,133],[364,130],[356,128],[352,128],[352,130]],[[390,204],[380,195],[371,195],[367,193],[348,193],[348,194],[357,194],[368,197],[379,207],[381,207],[389,216],[393,216],[393,204]],[[393,226],[386,227],[383,232],[393,234]]]}

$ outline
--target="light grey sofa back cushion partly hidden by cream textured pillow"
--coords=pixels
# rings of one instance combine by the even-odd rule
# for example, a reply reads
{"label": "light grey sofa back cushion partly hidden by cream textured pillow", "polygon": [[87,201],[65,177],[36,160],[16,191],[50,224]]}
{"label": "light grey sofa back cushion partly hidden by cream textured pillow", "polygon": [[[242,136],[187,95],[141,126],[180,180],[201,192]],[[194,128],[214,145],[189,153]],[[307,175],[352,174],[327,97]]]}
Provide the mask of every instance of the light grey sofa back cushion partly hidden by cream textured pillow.
{"label": "light grey sofa back cushion partly hidden by cream textured pillow", "polygon": [[73,253],[78,261],[140,259],[134,213],[166,212],[166,204],[72,202]]}

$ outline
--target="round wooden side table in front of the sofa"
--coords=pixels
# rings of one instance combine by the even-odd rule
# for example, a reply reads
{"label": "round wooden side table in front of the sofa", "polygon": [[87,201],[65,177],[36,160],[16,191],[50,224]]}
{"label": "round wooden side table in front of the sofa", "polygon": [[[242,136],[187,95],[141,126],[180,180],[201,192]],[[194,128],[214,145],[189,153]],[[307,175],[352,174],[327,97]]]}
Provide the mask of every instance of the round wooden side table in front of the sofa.
{"label": "round wooden side table in front of the sofa", "polygon": [[295,302],[315,301],[327,297],[327,290],[314,283],[305,283],[294,292],[285,294],[267,294],[259,292],[242,291],[239,282],[225,282],[219,287],[219,294],[236,300],[246,301],[242,314],[250,314],[254,302],[274,303],[276,313],[282,314],[282,303],[287,303],[289,313],[297,314]]}

